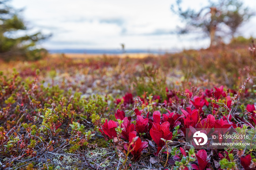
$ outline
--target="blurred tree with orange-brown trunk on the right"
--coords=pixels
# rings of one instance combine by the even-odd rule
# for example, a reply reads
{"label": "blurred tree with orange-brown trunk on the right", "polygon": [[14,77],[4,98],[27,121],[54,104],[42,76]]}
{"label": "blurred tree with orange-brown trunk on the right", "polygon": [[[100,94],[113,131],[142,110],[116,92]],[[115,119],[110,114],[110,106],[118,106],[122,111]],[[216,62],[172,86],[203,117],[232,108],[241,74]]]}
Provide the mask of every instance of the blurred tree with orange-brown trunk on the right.
{"label": "blurred tree with orange-brown trunk on the right", "polygon": [[185,28],[180,29],[180,33],[203,31],[210,36],[210,47],[217,45],[217,33],[229,30],[224,35],[229,33],[233,38],[238,27],[254,15],[240,0],[210,0],[207,6],[199,8],[198,11],[191,8],[183,10],[181,3],[182,0],[176,0],[176,4],[171,7],[187,23]]}

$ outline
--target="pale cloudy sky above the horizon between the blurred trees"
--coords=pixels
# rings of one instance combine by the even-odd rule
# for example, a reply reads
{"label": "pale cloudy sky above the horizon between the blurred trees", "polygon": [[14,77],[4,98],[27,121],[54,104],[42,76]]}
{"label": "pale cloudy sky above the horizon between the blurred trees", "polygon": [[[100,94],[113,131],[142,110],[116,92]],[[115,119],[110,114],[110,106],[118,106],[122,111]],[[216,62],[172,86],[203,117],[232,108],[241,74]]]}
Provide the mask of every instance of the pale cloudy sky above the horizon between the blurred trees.
{"label": "pale cloudy sky above the horizon between the blurred trees", "polygon": [[[210,39],[198,35],[172,34],[184,26],[170,10],[175,0],[12,0],[29,32],[42,31],[52,37],[41,46],[48,49],[175,50],[205,48]],[[182,7],[199,8],[205,0],[184,0]],[[255,0],[243,0],[256,9]],[[256,37],[256,17],[238,33]]]}

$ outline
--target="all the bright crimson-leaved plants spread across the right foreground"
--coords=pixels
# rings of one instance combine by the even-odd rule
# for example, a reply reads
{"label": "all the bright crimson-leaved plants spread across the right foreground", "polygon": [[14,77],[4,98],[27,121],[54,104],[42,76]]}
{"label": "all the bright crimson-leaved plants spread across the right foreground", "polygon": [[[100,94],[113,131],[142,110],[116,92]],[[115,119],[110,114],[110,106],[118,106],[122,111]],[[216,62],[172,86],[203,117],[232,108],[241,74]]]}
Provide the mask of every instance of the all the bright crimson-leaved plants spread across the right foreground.
{"label": "all the bright crimson-leaved plants spread across the right foreground", "polygon": [[[231,91],[231,90],[230,90]],[[167,100],[163,101],[162,106],[171,105],[171,103],[174,102],[182,102],[184,101],[184,98],[180,98],[180,96],[174,91],[174,90],[168,90],[167,92]],[[233,90],[233,94],[236,92]],[[156,144],[156,152],[154,152],[154,155],[158,155],[159,151],[162,149],[163,146],[165,146],[165,142],[162,139],[165,140],[172,140],[173,137],[173,129],[177,125],[181,126],[181,131],[183,132],[183,135],[186,136],[186,128],[190,128],[192,130],[191,134],[188,134],[188,136],[193,136],[193,129],[195,128],[202,128],[204,130],[204,133],[212,133],[212,134],[221,134],[223,131],[214,131],[212,132],[212,128],[225,128],[228,129],[230,127],[236,128],[237,124],[232,119],[231,115],[227,115],[226,111],[230,111],[229,109],[234,104],[231,100],[230,93],[225,92],[223,90],[223,86],[217,88],[214,87],[214,90],[208,90],[206,89],[204,92],[201,91],[199,95],[193,96],[193,93],[190,92],[188,89],[186,89],[186,94],[189,96],[190,99],[188,107],[186,109],[180,109],[181,113],[178,112],[170,112],[167,110],[167,113],[162,114],[159,111],[153,112],[153,115],[150,116],[149,112],[145,113],[143,110],[135,109],[134,113],[136,116],[136,119],[133,119],[133,116],[131,117],[125,117],[125,112],[120,111],[119,109],[115,113],[116,119],[124,120],[124,122],[121,124],[121,127],[124,128],[121,133],[121,138],[123,140],[128,141],[128,143],[132,143],[132,139],[136,136],[140,136],[143,138],[138,138],[138,144],[132,145],[132,148],[135,146],[135,150],[132,151],[133,157],[138,160],[140,157],[142,150],[148,146],[148,143],[146,141],[144,144],[141,144],[142,140],[153,140]],[[145,94],[146,95],[146,94]],[[128,98],[127,94],[123,97],[125,105],[132,104],[131,100],[127,100],[125,98]],[[142,101],[142,104],[148,105],[148,101],[145,100],[145,96],[143,98],[140,98]],[[156,103],[153,104],[153,107],[157,104],[161,104],[161,98],[159,96],[154,96],[153,100],[156,99]],[[129,102],[128,102],[129,101]],[[210,109],[209,109],[210,108]],[[211,110],[211,114],[207,114]],[[256,111],[255,111],[254,105],[247,105],[246,111],[247,114],[249,114],[249,121],[251,125],[254,126],[256,124]],[[217,119],[218,118],[218,119]],[[240,119],[242,120],[242,118]],[[107,122],[107,120],[106,120]],[[107,123],[105,122],[103,127],[108,128],[110,131],[109,125],[107,126]],[[133,122],[133,123],[131,123]],[[243,121],[246,124],[246,121]],[[107,132],[107,136],[109,136],[108,139],[112,139],[113,137],[116,137],[116,131],[114,131],[113,127],[117,127],[118,123],[112,121],[113,126],[111,127],[111,133]],[[240,124],[241,127],[241,124]],[[196,131],[196,130],[195,130]],[[112,136],[108,134],[114,134]],[[182,134],[181,134],[182,135]],[[132,136],[132,137],[131,137]],[[218,139],[221,140],[221,139]],[[221,141],[219,141],[221,142]],[[124,148],[127,149],[128,143],[125,144]],[[180,149],[182,155],[186,155],[185,151],[181,148]],[[246,157],[249,157],[248,155]],[[197,170],[205,170],[208,169],[210,166],[210,163],[207,160],[207,152],[206,150],[199,150],[196,154],[198,166],[196,164],[192,164],[193,169]],[[177,158],[178,159],[178,158]],[[244,160],[244,157],[241,157],[241,165],[246,169],[246,167],[249,167],[249,163]]]}

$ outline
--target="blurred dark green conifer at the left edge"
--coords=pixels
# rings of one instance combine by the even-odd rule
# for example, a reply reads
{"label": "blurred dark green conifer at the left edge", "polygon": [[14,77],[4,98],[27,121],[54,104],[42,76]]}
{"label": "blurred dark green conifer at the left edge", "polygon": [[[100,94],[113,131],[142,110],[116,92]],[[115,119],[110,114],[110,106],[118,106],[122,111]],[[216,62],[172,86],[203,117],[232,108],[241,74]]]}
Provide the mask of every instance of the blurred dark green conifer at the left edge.
{"label": "blurred dark green conifer at the left edge", "polygon": [[41,32],[26,35],[27,27],[18,16],[20,10],[10,7],[8,1],[0,0],[0,59],[34,60],[41,58],[47,51],[38,49],[36,45],[38,41],[50,35],[43,35]]}

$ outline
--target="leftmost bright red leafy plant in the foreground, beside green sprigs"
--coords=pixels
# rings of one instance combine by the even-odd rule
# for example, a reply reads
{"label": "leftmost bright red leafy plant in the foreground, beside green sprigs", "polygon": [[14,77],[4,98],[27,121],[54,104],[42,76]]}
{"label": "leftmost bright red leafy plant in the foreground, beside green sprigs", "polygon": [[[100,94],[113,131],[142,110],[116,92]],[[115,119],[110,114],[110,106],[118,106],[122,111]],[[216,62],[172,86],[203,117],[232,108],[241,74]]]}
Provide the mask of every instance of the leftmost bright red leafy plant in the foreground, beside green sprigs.
{"label": "leftmost bright red leafy plant in the foreground, beside green sprigs", "polygon": [[[108,120],[106,119],[105,123],[102,126],[102,130],[99,129],[99,131],[102,134],[104,133],[105,135],[107,135],[109,137],[109,139],[113,139],[114,137],[117,137],[115,128],[117,128],[116,122],[113,120],[109,120],[109,122],[108,122]],[[105,138],[105,140],[108,140],[105,136],[104,136],[104,138]]]}

